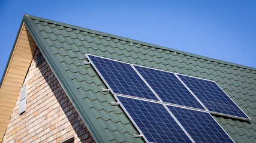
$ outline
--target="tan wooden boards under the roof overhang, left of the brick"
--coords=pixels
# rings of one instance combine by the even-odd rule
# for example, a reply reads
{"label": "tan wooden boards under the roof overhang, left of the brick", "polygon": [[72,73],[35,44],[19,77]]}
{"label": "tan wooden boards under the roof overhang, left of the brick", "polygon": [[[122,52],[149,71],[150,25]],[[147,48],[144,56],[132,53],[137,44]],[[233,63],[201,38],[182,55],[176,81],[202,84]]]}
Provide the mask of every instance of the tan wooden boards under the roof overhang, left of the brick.
{"label": "tan wooden boards under the roof overhang, left of the brick", "polygon": [[23,23],[0,88],[0,142],[13,112],[37,44]]}

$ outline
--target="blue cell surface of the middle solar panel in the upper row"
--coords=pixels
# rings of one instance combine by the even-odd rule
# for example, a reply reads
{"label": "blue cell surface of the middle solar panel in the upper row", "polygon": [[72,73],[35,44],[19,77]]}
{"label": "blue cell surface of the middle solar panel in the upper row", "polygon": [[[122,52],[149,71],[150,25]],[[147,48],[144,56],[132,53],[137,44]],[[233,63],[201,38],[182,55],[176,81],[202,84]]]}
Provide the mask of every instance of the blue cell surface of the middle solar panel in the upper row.
{"label": "blue cell surface of the middle solar panel in the upper row", "polygon": [[140,66],[134,67],[162,101],[205,110],[173,73]]}

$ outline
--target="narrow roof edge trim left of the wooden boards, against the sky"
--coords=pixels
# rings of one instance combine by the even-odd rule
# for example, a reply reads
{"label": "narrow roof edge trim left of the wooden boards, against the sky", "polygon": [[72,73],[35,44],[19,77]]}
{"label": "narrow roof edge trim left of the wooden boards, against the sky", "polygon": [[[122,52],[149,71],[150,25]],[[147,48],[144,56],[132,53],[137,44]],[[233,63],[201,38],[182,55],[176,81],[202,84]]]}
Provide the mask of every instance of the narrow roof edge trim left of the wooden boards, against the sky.
{"label": "narrow roof edge trim left of the wooden boards, against the sky", "polygon": [[19,31],[18,31],[18,33],[17,33],[16,39],[15,39],[15,41],[14,41],[14,43],[13,43],[13,48],[11,49],[11,53],[10,53],[10,55],[9,55],[7,64],[6,64],[5,69],[4,69],[4,73],[2,73],[2,79],[1,79],[1,82],[0,82],[0,88],[2,88],[2,82],[4,81],[4,77],[5,77],[6,71],[7,71],[8,66],[9,66],[9,64],[10,64],[10,61],[11,61],[11,55],[13,55],[13,52],[14,52],[14,49],[15,49],[17,40],[19,39],[19,35],[20,35],[21,29],[22,29],[22,25],[23,25],[23,23],[24,23],[24,17],[25,17],[25,15],[23,16],[22,22],[20,23],[20,28],[19,28]]}

